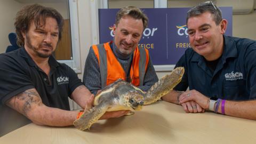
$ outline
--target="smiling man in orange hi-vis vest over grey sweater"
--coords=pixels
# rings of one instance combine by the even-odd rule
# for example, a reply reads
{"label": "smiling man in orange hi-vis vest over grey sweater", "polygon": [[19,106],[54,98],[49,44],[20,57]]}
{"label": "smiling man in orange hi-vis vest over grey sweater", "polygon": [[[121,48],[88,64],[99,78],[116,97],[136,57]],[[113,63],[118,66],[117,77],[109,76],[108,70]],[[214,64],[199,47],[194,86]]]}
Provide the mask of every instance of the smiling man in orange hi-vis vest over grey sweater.
{"label": "smiling man in orange hi-vis vest over grey sweater", "polygon": [[124,7],[116,14],[113,41],[91,46],[83,82],[93,94],[118,78],[143,91],[158,81],[148,50],[138,46],[147,23],[148,18],[140,9]]}

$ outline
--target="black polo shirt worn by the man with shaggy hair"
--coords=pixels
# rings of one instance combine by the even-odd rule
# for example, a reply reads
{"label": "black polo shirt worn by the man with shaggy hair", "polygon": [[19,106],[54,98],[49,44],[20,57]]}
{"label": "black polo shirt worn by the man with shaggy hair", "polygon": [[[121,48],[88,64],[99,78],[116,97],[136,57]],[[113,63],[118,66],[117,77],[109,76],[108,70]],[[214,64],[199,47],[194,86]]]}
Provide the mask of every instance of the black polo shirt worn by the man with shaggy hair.
{"label": "black polo shirt worn by the man with shaggy hair", "polygon": [[44,105],[70,110],[68,97],[82,82],[73,69],[52,56],[49,65],[50,79],[24,48],[0,54],[0,105],[14,95],[35,88]]}

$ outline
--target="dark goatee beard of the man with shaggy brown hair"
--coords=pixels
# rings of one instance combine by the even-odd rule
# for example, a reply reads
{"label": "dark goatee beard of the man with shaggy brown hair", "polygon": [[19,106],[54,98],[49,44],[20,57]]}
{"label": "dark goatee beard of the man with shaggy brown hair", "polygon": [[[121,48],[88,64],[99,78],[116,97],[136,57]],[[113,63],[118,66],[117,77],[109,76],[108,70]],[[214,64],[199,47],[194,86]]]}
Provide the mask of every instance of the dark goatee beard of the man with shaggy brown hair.
{"label": "dark goatee beard of the man with shaggy brown hair", "polygon": [[39,47],[41,47],[41,46],[47,46],[47,47],[52,48],[51,44],[41,43],[41,44],[38,45],[38,47],[35,47],[31,44],[30,37],[28,36],[28,34],[26,34],[26,39],[27,39],[26,43],[27,43],[29,49],[33,50],[38,57],[40,57],[40,58],[49,58],[52,55],[52,52],[50,54],[48,54],[48,53],[40,53],[39,51],[37,51],[39,49]]}

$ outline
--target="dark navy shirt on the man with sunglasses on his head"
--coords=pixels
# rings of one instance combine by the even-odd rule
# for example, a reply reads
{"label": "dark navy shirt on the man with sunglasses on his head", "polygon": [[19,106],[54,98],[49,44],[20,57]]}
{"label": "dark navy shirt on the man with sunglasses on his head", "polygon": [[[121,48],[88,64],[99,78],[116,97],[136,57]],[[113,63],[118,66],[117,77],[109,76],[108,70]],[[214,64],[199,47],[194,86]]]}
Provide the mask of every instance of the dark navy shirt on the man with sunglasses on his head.
{"label": "dark navy shirt on the man with sunglasses on his head", "polygon": [[187,49],[175,67],[185,67],[178,91],[197,90],[207,97],[226,100],[256,99],[256,42],[223,36],[225,45],[212,73],[205,59]]}

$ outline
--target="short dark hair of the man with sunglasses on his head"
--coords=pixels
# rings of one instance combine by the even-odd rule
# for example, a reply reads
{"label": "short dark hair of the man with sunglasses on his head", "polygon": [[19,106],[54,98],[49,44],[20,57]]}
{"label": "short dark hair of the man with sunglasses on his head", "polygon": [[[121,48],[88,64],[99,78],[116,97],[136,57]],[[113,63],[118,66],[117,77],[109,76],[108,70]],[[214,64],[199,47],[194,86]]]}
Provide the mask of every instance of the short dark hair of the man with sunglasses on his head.
{"label": "short dark hair of the man with sunglasses on his head", "polygon": [[210,12],[212,14],[213,20],[216,23],[216,25],[220,24],[222,20],[221,10],[219,9],[219,7],[217,7],[217,5],[214,5],[211,1],[198,4],[197,6],[191,8],[187,12],[187,24],[189,18],[196,17],[205,12]]}

